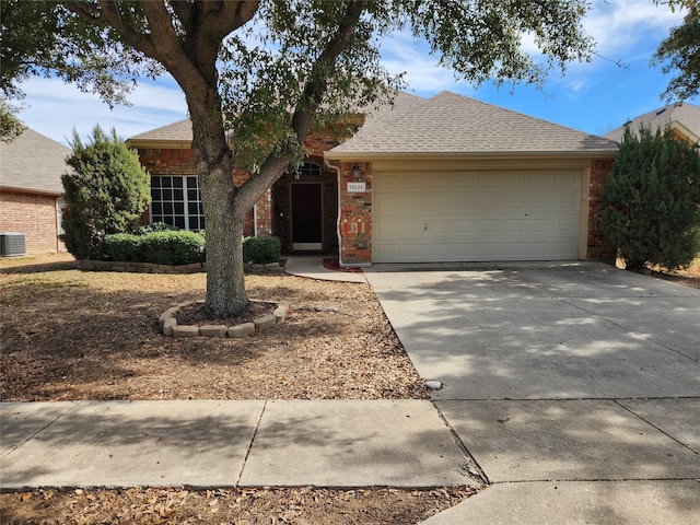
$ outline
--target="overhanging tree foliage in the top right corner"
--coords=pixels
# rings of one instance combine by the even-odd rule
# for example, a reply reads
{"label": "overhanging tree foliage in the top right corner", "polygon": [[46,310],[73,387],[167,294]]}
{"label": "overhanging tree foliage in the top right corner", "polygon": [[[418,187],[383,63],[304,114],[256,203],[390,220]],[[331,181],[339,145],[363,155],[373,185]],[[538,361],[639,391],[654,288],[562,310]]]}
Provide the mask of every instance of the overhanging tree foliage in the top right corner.
{"label": "overhanging tree foliage in the top right corner", "polygon": [[700,93],[700,3],[689,0],[686,5],[682,24],[670,31],[652,58],[653,65],[663,65],[665,74],[677,73],[662,95],[667,101],[685,101]]}

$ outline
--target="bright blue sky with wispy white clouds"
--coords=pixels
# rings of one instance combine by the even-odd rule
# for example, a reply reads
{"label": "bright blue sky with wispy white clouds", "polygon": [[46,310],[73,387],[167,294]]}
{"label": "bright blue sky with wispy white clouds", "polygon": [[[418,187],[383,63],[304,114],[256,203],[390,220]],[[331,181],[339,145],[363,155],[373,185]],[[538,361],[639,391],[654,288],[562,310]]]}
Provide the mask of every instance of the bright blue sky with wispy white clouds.
{"label": "bright blue sky with wispy white clouds", "polygon": [[[592,0],[584,27],[597,43],[597,55],[591,62],[569,65],[563,77],[552,70],[541,90],[526,85],[498,90],[489,83],[475,88],[458,81],[452,71],[436,67],[438,57],[430,56],[424,44],[406,34],[385,39],[382,57],[392,73],[406,72],[407,91],[416,95],[430,97],[452,91],[581,131],[605,135],[665,104],[660,95],[670,75],[650,66],[650,59],[685,13],[674,13],[653,0]],[[23,89],[27,107],[20,118],[35,131],[65,144],[73,128],[85,138],[98,124],[105,130],[114,127],[127,139],[187,117],[184,95],[167,75],[139,82],[129,95],[132,105],[112,110],[96,95],[83,94],[57,79],[33,78]],[[700,97],[687,102],[700,105]]]}

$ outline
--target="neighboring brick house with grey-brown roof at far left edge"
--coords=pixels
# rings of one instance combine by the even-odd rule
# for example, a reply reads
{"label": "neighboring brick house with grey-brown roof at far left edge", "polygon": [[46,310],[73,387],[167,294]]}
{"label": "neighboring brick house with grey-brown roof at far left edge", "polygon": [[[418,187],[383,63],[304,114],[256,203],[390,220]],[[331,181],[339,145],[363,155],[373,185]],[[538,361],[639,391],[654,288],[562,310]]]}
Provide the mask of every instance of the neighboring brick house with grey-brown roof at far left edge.
{"label": "neighboring brick house with grey-brown roof at far left edge", "polygon": [[62,250],[58,240],[71,149],[33,129],[0,142],[0,231],[23,233],[27,253]]}

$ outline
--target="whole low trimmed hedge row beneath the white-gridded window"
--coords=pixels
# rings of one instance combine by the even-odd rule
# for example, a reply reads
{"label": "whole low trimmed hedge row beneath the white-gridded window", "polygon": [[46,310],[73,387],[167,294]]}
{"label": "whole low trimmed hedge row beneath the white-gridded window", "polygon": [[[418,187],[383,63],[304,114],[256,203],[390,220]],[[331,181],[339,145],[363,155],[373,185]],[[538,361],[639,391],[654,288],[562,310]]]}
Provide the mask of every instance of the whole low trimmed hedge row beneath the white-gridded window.
{"label": "whole low trimmed hedge row beneath the white-gridded window", "polygon": [[104,256],[119,262],[190,265],[205,260],[205,237],[195,232],[166,231],[131,235],[105,235]]}

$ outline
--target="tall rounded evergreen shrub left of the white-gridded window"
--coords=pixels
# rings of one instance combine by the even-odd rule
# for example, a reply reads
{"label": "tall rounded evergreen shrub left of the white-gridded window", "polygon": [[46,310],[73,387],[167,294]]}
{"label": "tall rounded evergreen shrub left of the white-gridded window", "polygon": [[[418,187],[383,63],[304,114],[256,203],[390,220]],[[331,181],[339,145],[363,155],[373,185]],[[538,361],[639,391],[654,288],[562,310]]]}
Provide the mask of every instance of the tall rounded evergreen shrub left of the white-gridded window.
{"label": "tall rounded evergreen shrub left of the white-gridded window", "polygon": [[61,176],[67,209],[63,242],[75,258],[97,257],[105,234],[133,228],[150,199],[150,177],[117,137],[96,126],[88,143],[73,130],[72,154],[66,163],[73,168]]}

